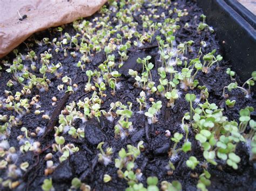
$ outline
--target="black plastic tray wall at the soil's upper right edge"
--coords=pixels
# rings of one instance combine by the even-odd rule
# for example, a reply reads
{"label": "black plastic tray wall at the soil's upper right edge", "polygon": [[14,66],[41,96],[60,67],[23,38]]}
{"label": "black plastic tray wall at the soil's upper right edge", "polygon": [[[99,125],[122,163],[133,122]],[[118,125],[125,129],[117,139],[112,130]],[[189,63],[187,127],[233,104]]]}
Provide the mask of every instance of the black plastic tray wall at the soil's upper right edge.
{"label": "black plastic tray wall at the soil's upper right edge", "polygon": [[256,16],[237,0],[197,0],[220,40],[225,60],[242,81],[256,70]]}

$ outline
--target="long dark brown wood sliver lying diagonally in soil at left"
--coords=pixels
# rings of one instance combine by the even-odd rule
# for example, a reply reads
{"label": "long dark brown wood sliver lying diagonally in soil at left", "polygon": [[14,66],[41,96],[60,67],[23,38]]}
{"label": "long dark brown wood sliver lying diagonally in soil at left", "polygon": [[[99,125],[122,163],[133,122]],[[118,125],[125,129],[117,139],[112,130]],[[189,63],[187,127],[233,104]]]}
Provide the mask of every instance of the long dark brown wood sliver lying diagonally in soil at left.
{"label": "long dark brown wood sliver lying diagonally in soil at left", "polygon": [[58,103],[56,109],[53,111],[52,116],[50,118],[50,121],[48,122],[47,126],[46,126],[46,130],[44,132],[44,135],[42,137],[43,140],[45,140],[45,137],[48,136],[52,131],[54,126],[56,125],[57,121],[58,121],[58,117],[60,115],[60,112],[63,110],[66,102],[69,99],[70,94],[66,93],[62,100]]}

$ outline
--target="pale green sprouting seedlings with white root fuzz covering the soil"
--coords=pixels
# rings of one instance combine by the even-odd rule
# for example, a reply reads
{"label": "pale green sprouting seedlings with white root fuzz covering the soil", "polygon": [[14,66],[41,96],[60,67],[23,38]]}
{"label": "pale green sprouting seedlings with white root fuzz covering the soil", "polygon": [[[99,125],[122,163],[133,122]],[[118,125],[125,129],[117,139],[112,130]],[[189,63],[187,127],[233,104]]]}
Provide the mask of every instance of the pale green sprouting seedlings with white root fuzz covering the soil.
{"label": "pale green sprouting seedlings with white root fuzz covering the soil", "polygon": [[[44,152],[41,138],[45,135],[45,126],[38,126],[34,129],[27,129],[23,126],[23,117],[28,114],[41,116],[43,120],[50,121],[51,112],[43,108],[41,94],[47,94],[49,89],[54,89],[60,95],[76,94],[83,90],[87,94],[85,98],[71,101],[58,116],[58,123],[54,126],[52,133],[53,143],[51,152],[43,153],[45,160],[45,180],[42,185],[43,190],[53,190],[51,174],[55,168],[63,161],[67,160],[73,153],[79,152],[76,143],[69,143],[66,136],[74,139],[84,139],[86,129],[76,128],[76,121],[86,123],[92,118],[100,122],[104,117],[108,121],[115,123],[113,126],[114,138],[126,139],[134,131],[134,114],[146,116],[148,124],[158,123],[158,116],[164,112],[164,108],[174,108],[177,100],[185,99],[190,110],[184,112],[184,117],[180,122],[180,131],[171,133],[166,130],[166,137],[170,137],[172,147],[169,150],[169,163],[166,164],[171,171],[175,171],[173,161],[181,152],[189,153],[193,148],[188,133],[193,133],[203,152],[203,160],[190,156],[186,160],[187,168],[199,169],[201,174],[194,173],[194,178],[198,179],[197,188],[207,190],[211,185],[211,174],[208,165],[218,165],[218,161],[238,169],[240,157],[235,154],[237,145],[244,142],[251,147],[251,157],[256,154],[256,123],[251,118],[253,107],[241,108],[235,121],[230,121],[224,114],[223,108],[219,108],[217,103],[211,103],[208,98],[211,96],[208,89],[199,83],[198,74],[208,75],[212,70],[218,70],[219,64],[223,60],[221,55],[216,54],[216,50],[203,53],[206,46],[205,41],[200,42],[197,50],[193,40],[184,41],[177,44],[176,33],[180,27],[189,28],[190,23],[184,26],[178,25],[181,17],[186,17],[186,9],[179,10],[177,3],[171,1],[152,1],[147,3],[147,13],[141,14],[143,24],[136,22],[134,15],[140,12],[144,6],[144,1],[109,1],[109,5],[104,5],[100,9],[100,16],[94,17],[92,21],[77,20],[73,22],[73,30],[76,34],[71,36],[64,31],[64,27],[55,29],[58,38],[43,38],[42,41],[35,40],[37,46],[48,46],[43,53],[38,54],[30,44],[26,44],[30,50],[27,54],[14,49],[15,58],[12,62],[2,60],[0,66],[1,73],[9,73],[10,79],[5,86],[5,91],[1,94],[0,109],[0,171],[3,173],[0,178],[1,187],[17,188],[22,184],[22,176],[28,171],[30,165],[25,161],[17,165],[17,158],[22,154],[32,151],[36,154]],[[159,13],[158,8],[169,10],[166,15]],[[114,17],[113,17],[114,16]],[[201,22],[198,23],[197,33],[203,31],[214,32],[212,27],[205,23],[206,17],[201,15]],[[122,73],[120,70],[129,58],[131,49],[145,48],[156,42],[158,49],[157,62],[152,62],[152,56],[138,58],[137,65],[142,70],[130,68],[128,73],[132,85],[139,90],[136,101],[139,107],[134,107],[134,103],[119,100],[108,105],[109,109],[102,108],[105,97],[117,96],[118,90],[122,88]],[[94,56],[104,52],[104,62],[94,69],[90,67]],[[63,58],[72,56],[79,58],[75,66],[64,66],[61,60],[52,62],[54,55],[62,55]],[[191,58],[191,55],[193,58]],[[188,59],[191,58],[191,59]],[[77,83],[73,83],[72,76],[63,74],[66,67],[77,67],[85,71],[87,81],[82,88]],[[90,68],[90,69],[89,69]],[[152,73],[157,74],[152,77]],[[223,87],[223,99],[226,107],[234,107],[236,100],[228,99],[228,93],[238,89],[244,94],[244,99],[252,99],[251,87],[256,81],[256,72],[244,84],[239,86],[235,81],[235,73],[228,68],[227,77],[233,81]],[[54,76],[54,77],[52,77]],[[59,80],[56,84],[52,79]],[[12,91],[18,87],[19,91]],[[111,90],[111,91],[107,91]],[[196,94],[199,90],[200,94]],[[37,92],[38,94],[35,94]],[[90,96],[89,96],[90,95]],[[153,97],[160,97],[158,100]],[[161,100],[165,99],[166,102]],[[52,106],[57,105],[58,99],[52,97]],[[14,129],[19,129],[17,136],[18,146],[9,143],[9,136]],[[17,144],[16,144],[17,145]],[[136,164],[136,159],[147,148],[141,140],[136,146],[124,145],[115,153],[112,147],[107,147],[104,151],[104,142],[99,143],[97,149],[98,162],[104,166],[114,162],[118,178],[127,181],[126,190],[181,190],[181,183],[174,180],[172,182],[161,181],[158,183],[156,176],[146,179],[147,185],[140,182],[143,173]],[[125,148],[126,147],[126,148]],[[53,161],[53,156],[58,156],[58,161]],[[105,183],[112,181],[108,174],[104,175]],[[90,190],[78,178],[71,182],[70,189]]]}

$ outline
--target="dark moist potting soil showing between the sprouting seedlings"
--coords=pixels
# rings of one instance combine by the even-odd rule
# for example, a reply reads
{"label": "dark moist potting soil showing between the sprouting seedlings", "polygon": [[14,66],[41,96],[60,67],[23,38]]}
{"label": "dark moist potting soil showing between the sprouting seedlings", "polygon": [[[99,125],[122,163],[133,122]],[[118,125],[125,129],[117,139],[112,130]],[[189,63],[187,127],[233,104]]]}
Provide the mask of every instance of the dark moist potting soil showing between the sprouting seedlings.
{"label": "dark moist potting soil showing between the sprouting seedlings", "polygon": [[[206,54],[211,52],[213,49],[217,49],[217,53],[221,54],[220,46],[218,43],[218,39],[215,37],[214,33],[209,32],[208,30],[202,31],[200,34],[197,31],[197,26],[199,24],[199,17],[201,13],[203,13],[196,3],[192,1],[177,1],[179,9],[187,9],[188,16],[184,16],[180,18],[180,21],[177,22],[180,26],[184,26],[185,23],[190,23],[190,27],[180,27],[180,29],[176,32],[176,42],[177,44],[182,43],[184,41],[193,40],[194,41],[194,52],[188,53],[187,58],[193,59],[196,58],[197,53],[199,51],[200,41],[205,41],[206,46],[201,49],[201,51]],[[143,6],[142,12],[145,11],[147,14],[147,4]],[[159,9],[158,13],[167,12],[169,10]],[[138,13],[139,15],[139,13]],[[142,25],[142,20],[138,15],[134,15],[134,19],[139,25]],[[87,18],[92,22],[92,19],[98,16],[98,13],[93,15],[90,18]],[[114,15],[112,15],[114,17]],[[110,18],[112,19],[112,18]],[[141,26],[137,27],[137,30],[142,30]],[[76,34],[76,31],[73,29],[72,24],[65,25],[65,29],[63,30],[63,34],[68,32],[70,36]],[[157,35],[157,34],[156,34]],[[53,38],[59,38],[59,32],[55,29],[49,29],[43,32],[39,32],[35,34],[36,40],[42,40],[43,38],[48,37],[50,41]],[[132,40],[131,40],[132,41]],[[40,58],[40,54],[47,51],[49,48],[53,48],[51,45],[38,46],[34,43],[33,40],[26,40],[26,43],[34,44],[33,50],[36,52],[38,58]],[[152,46],[151,46],[152,45]],[[53,187],[55,190],[67,190],[71,186],[71,180],[75,177],[79,178],[82,182],[85,182],[87,185],[95,190],[124,190],[127,187],[127,181],[124,179],[118,178],[117,168],[114,166],[114,158],[118,157],[118,151],[121,148],[126,148],[127,144],[137,145],[140,140],[144,141],[145,151],[140,154],[140,157],[136,159],[136,166],[141,169],[143,176],[142,182],[144,186],[146,186],[146,178],[148,176],[157,176],[159,182],[167,180],[169,182],[173,180],[178,180],[181,182],[184,190],[197,190],[197,178],[191,178],[191,169],[186,167],[186,160],[190,156],[196,157],[199,161],[203,161],[203,152],[200,148],[198,141],[194,138],[193,131],[189,133],[189,140],[192,143],[192,151],[188,153],[180,152],[178,153],[178,158],[173,162],[176,167],[175,171],[173,171],[172,175],[167,174],[166,165],[168,164],[170,157],[168,152],[170,148],[173,146],[173,142],[170,138],[165,136],[165,131],[169,130],[171,135],[175,132],[182,133],[183,131],[180,128],[181,119],[183,118],[185,112],[190,111],[190,105],[185,101],[186,93],[194,93],[196,95],[200,95],[199,89],[189,90],[187,92],[181,90],[183,94],[181,98],[179,98],[174,108],[167,108],[167,100],[165,97],[158,96],[156,94],[152,94],[151,97],[154,100],[161,100],[163,107],[161,108],[160,114],[158,117],[158,122],[156,124],[148,124],[146,116],[144,114],[140,114],[138,111],[139,104],[136,101],[136,97],[139,96],[140,91],[142,89],[135,88],[133,83],[135,82],[132,77],[127,75],[128,69],[134,70],[142,70],[140,66],[137,65],[137,58],[144,58],[147,55],[152,56],[152,63],[154,64],[154,69],[152,72],[153,79],[159,79],[157,74],[158,67],[161,67],[161,62],[159,62],[159,53],[158,47],[156,45],[156,39],[153,39],[150,46],[145,45],[145,48],[136,48],[131,47],[129,49],[129,59],[124,63],[124,66],[119,69],[119,72],[122,73],[122,77],[120,77],[120,82],[122,82],[122,88],[117,90],[116,95],[111,96],[111,89],[107,87],[104,93],[108,96],[103,97],[102,100],[104,103],[101,105],[101,109],[109,110],[111,102],[122,101],[122,103],[132,102],[133,104],[133,116],[131,118],[131,122],[133,123],[134,131],[130,133],[124,139],[114,138],[114,125],[116,124],[118,119],[114,119],[113,122],[106,120],[105,117],[100,117],[100,123],[97,122],[96,119],[91,119],[89,122],[82,123],[80,119],[78,119],[75,123],[75,128],[85,127],[85,138],[84,139],[74,139],[71,136],[65,134],[62,135],[65,137],[65,143],[72,143],[75,146],[79,147],[79,151],[70,155],[68,160],[63,161],[61,164],[57,166],[52,175],[49,175],[48,178],[52,178]],[[26,54],[30,50],[26,48],[24,44],[18,47],[19,52],[22,54]],[[75,48],[68,49],[68,53],[75,51]],[[63,76],[68,75],[71,77],[73,83],[78,84],[78,90],[75,91],[74,94],[70,95],[66,105],[69,103],[78,100],[83,100],[84,97],[91,97],[91,93],[85,93],[84,87],[87,82],[87,76],[85,74],[85,70],[87,69],[97,69],[98,65],[105,61],[105,53],[104,51],[97,53],[94,55],[92,61],[90,63],[86,63],[86,69],[82,71],[80,68],[76,67],[76,63],[79,61],[79,58],[82,54],[78,53],[76,58],[73,58],[70,54],[68,57],[63,56],[63,52],[56,53],[55,51],[51,52],[52,54],[52,63],[61,62],[63,65]],[[118,52],[114,52],[116,58],[119,59]],[[10,53],[5,60],[12,60],[14,55]],[[118,60],[117,59],[117,60]],[[24,65],[29,66],[30,61],[23,61]],[[36,65],[40,65],[39,60],[36,61]],[[251,94],[251,98],[245,98],[244,94],[240,90],[232,90],[229,93],[230,100],[236,100],[235,106],[233,108],[227,108],[225,105],[225,100],[221,97],[223,93],[223,87],[230,84],[232,81],[230,77],[226,74],[226,69],[231,67],[230,63],[226,61],[221,61],[219,64],[219,68],[211,69],[211,72],[208,74],[204,74],[199,72],[197,75],[197,79],[199,81],[200,86],[206,86],[208,88],[208,92],[210,94],[208,101],[210,103],[215,103],[219,108],[224,108],[224,116],[228,117],[230,121],[235,120],[238,121],[239,118],[239,110],[245,108],[246,106],[251,106],[256,108],[255,96],[253,93]],[[39,68],[39,67],[38,67]],[[3,66],[3,71],[7,69],[7,67]],[[32,72],[32,71],[30,71]],[[41,76],[39,71],[34,72],[35,75]],[[62,102],[64,97],[64,92],[57,91],[57,86],[62,84],[61,78],[57,78],[54,74],[46,73],[49,80],[51,80],[51,87],[49,91],[40,92],[38,89],[33,88],[30,95],[25,95],[24,98],[31,98],[35,95],[40,95],[41,101],[41,109],[49,112],[49,116],[56,111],[56,108],[59,105],[59,102]],[[238,76],[235,76],[238,82]],[[11,91],[12,93],[16,93],[16,91],[21,91],[22,86],[20,84],[15,84],[14,87],[6,87],[6,83],[11,79],[11,75],[6,72],[2,72],[1,76],[1,84],[0,86],[0,96],[4,96],[4,90]],[[158,80],[155,80],[156,83]],[[157,84],[158,85],[158,84]],[[109,96],[110,95],[110,96]],[[55,106],[51,105],[51,98],[56,96],[58,98],[58,102]],[[196,107],[196,104],[194,104]],[[49,126],[49,121],[46,119],[42,119],[41,115],[34,114],[35,108],[31,109],[30,114],[26,114],[22,117],[22,126],[25,126],[29,131],[35,131],[37,126],[45,127]],[[3,110],[0,108],[1,115],[15,115],[14,111]],[[253,118],[255,118],[255,113],[252,114]],[[58,123],[58,119],[57,119]],[[11,146],[14,146],[19,149],[19,143],[17,140],[17,136],[21,135],[22,132],[20,128],[12,128],[10,137],[8,141]],[[22,183],[17,190],[41,190],[41,185],[43,180],[46,178],[44,175],[44,169],[46,168],[46,162],[44,160],[45,154],[52,152],[51,144],[55,143],[53,132],[48,133],[47,136],[42,138],[35,138],[36,140],[40,140],[42,143],[41,147],[43,152],[41,154],[34,154],[29,151],[25,154],[21,154],[18,157],[16,165],[19,166],[24,161],[28,161],[30,167],[28,171],[24,173],[21,177]],[[96,149],[97,144],[100,142],[105,142],[104,149],[106,147],[112,147],[114,154],[112,155],[112,162],[106,167],[98,162],[97,154],[99,151]],[[180,147],[181,144],[178,144]],[[238,164],[238,170],[234,170],[233,168],[227,166],[226,164],[221,163],[221,160],[217,159],[218,166],[210,165],[208,166],[208,171],[211,174],[211,186],[208,187],[209,190],[255,190],[255,175],[253,174],[255,171],[255,165],[249,160],[248,147],[245,144],[240,143],[236,149],[236,154],[241,158],[241,162]],[[55,164],[59,163],[59,155],[57,153],[53,153],[53,162]],[[135,168],[136,169],[136,168]],[[193,173],[200,174],[203,170],[198,166]],[[109,174],[112,176],[112,181],[108,183],[103,182],[104,174]],[[0,171],[0,176],[5,177],[6,174],[4,171]],[[1,188],[6,189],[6,188]]]}

